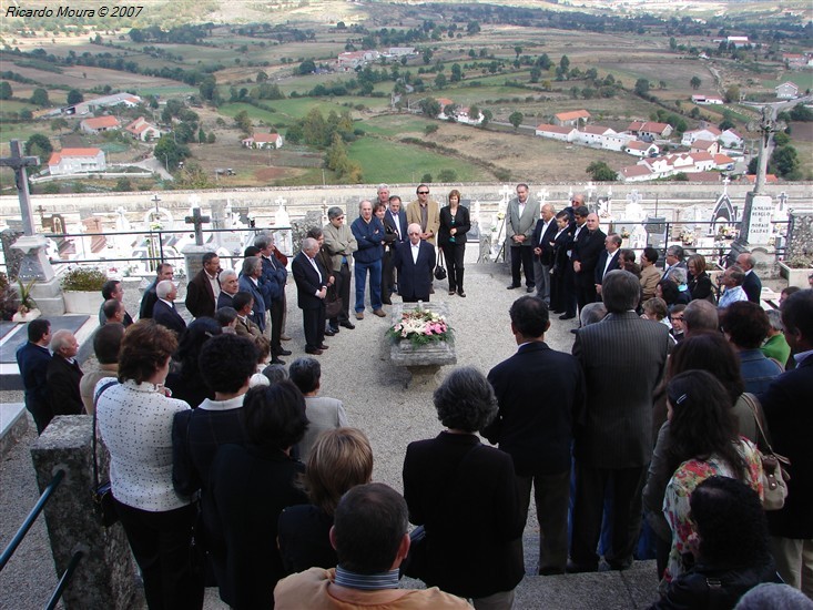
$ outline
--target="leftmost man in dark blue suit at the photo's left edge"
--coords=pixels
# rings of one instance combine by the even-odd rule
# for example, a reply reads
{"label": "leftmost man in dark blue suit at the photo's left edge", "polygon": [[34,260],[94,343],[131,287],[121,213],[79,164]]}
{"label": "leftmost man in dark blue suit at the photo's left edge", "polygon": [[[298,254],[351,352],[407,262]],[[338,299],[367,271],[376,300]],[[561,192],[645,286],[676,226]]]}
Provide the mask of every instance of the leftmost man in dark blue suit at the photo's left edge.
{"label": "leftmost man in dark blue suit at the photo's left edge", "polygon": [[26,408],[34,418],[37,434],[42,434],[53,418],[48,400],[48,365],[51,353],[51,323],[44,318],[28,323],[28,342],[17,350],[17,366],[20,368],[22,387],[26,389]]}

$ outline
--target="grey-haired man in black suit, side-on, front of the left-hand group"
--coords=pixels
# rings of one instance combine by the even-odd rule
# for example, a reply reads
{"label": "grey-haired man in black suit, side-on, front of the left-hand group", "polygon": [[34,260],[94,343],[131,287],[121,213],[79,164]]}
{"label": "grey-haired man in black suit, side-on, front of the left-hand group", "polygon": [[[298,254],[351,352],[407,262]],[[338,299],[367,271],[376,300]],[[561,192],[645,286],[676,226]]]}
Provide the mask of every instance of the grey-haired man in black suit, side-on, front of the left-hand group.
{"label": "grey-haired man in black suit, side-on, front of the left-hand group", "polygon": [[325,296],[327,270],[316,260],[319,243],[313,237],[302,241],[302,252],[291,263],[296,282],[296,296],[305,327],[305,352],[321,355],[325,345]]}

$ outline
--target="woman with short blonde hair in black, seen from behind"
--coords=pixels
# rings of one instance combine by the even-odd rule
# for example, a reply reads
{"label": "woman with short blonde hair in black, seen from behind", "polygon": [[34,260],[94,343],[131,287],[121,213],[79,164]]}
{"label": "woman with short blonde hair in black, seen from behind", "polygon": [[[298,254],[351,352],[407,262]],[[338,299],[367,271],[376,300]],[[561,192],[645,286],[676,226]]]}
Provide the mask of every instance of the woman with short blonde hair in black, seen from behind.
{"label": "woman with short blonde hair in black, seen from behind", "polygon": [[338,562],[328,533],[342,496],[373,477],[373,449],[362,430],[336,428],[319,435],[311,449],[302,482],[312,504],[280,515],[277,542],[285,569],[334,568]]}

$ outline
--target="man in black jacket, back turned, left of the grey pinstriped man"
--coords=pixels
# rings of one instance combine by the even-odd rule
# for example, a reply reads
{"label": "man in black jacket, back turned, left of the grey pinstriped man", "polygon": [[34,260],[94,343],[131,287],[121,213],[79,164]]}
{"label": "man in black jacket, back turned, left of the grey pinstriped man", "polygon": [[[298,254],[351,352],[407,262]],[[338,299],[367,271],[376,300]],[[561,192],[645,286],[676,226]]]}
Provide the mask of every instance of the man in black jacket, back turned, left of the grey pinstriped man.
{"label": "man in black jacket, back turned, left of the grey pinstriped man", "polygon": [[509,314],[519,348],[488,374],[499,414],[482,434],[514,458],[524,522],[533,485],[539,573],[562,573],[568,560],[570,445],[573,421],[585,407],[585,378],[576,358],[545,343],[550,319],[540,298],[520,297]]}

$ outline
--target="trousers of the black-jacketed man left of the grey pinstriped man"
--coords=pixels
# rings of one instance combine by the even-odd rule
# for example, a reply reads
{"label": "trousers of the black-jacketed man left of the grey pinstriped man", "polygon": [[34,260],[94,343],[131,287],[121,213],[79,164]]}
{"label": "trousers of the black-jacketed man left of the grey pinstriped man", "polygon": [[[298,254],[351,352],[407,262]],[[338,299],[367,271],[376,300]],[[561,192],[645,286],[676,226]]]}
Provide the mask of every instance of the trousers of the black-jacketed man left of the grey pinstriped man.
{"label": "trousers of the black-jacketed man left of the grey pinstriped man", "polygon": [[557,475],[517,475],[524,520],[528,518],[531,482],[539,521],[539,573],[562,573],[568,561],[570,469]]}

